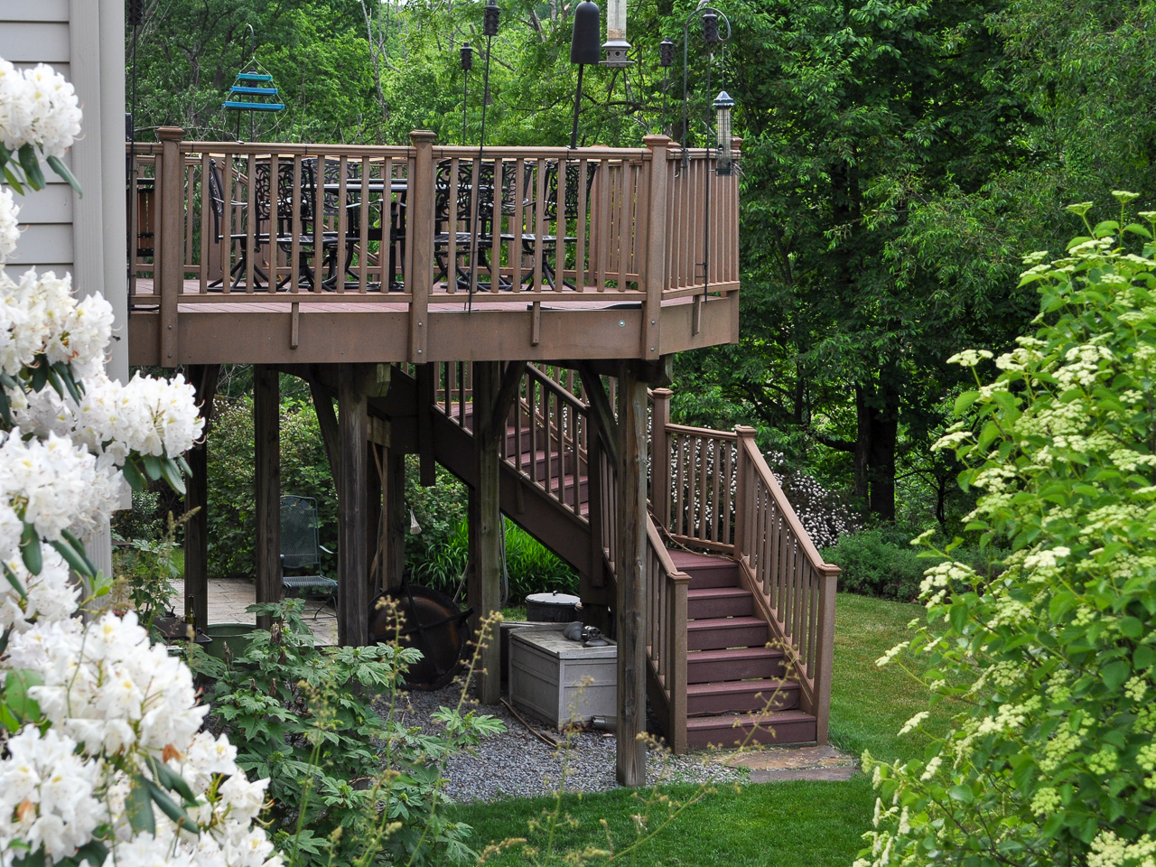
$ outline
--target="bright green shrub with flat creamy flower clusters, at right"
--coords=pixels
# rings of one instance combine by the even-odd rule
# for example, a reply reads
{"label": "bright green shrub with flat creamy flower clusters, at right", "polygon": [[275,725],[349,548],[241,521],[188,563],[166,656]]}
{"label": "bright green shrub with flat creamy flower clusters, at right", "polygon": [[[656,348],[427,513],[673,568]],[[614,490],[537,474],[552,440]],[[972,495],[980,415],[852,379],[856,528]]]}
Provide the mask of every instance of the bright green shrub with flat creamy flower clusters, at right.
{"label": "bright green shrub with flat creamy flower clusters, at right", "polygon": [[950,561],[924,578],[919,676],[968,710],[922,758],[865,756],[880,800],[859,865],[1156,859],[1156,213],[1126,224],[1117,198],[1068,255],[1028,258],[1035,335],[955,358],[999,370],[941,445],[983,491],[969,528],[1010,554],[995,578]]}

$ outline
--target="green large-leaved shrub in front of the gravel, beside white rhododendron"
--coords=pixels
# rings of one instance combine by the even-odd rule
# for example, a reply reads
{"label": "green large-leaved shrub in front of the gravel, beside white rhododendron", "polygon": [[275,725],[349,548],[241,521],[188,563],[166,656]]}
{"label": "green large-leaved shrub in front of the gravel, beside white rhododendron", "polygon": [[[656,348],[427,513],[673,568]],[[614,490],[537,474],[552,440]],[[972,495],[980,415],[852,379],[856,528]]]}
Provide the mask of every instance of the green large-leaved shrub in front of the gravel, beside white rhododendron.
{"label": "green large-leaved shrub in front of the gravel, beside white rhododendron", "polygon": [[[313,646],[301,602],[251,606],[274,618],[225,665],[192,650],[216,679],[210,726],[238,744],[237,764],[269,778],[266,812],[295,867],[331,864],[440,864],[469,852],[469,827],[438,807],[445,758],[502,729],[491,717],[443,707],[442,738],[392,716],[406,665],[420,655],[395,644]],[[388,712],[373,703],[384,695]]]}

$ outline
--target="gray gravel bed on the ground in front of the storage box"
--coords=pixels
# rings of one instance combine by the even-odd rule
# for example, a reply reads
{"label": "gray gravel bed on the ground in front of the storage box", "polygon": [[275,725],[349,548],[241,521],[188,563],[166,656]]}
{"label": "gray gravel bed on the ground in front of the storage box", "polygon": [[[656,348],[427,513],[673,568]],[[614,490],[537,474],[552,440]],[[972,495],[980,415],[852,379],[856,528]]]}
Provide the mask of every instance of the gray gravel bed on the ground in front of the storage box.
{"label": "gray gravel bed on the ground in front of the storage box", "polygon": [[[427,733],[438,734],[438,726],[430,721],[430,714],[443,705],[457,706],[460,695],[460,686],[432,692],[402,692],[398,696],[397,712],[406,725],[417,725]],[[569,738],[569,749],[558,749],[527,731],[505,705],[498,704],[482,711],[501,719],[506,731],[486,738],[470,753],[454,756],[447,762],[445,793],[451,800],[533,798],[553,794],[560,783],[569,792],[605,792],[617,787],[614,778],[613,733],[576,732]],[[554,731],[548,722],[521,710],[518,712],[539,731]],[[742,769],[726,768],[718,756],[711,754],[672,756],[652,747],[646,756],[646,781],[652,785],[735,783],[746,780],[748,776]]]}

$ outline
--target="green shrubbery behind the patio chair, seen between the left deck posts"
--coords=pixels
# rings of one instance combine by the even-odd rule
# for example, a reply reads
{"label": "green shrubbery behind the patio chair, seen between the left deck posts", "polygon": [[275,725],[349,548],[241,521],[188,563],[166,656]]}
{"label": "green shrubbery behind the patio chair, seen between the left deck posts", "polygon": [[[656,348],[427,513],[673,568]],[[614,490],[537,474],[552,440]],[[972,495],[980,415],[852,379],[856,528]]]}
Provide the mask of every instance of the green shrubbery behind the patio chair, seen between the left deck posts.
{"label": "green shrubbery behind the patio chair, seen between the left deck posts", "polygon": [[[283,390],[288,391],[288,390]],[[218,398],[209,430],[209,573],[251,576],[253,561],[253,399]],[[281,490],[317,499],[320,543],[338,548],[338,497],[312,403],[289,394],[281,401]],[[321,554],[321,571],[336,569]]]}

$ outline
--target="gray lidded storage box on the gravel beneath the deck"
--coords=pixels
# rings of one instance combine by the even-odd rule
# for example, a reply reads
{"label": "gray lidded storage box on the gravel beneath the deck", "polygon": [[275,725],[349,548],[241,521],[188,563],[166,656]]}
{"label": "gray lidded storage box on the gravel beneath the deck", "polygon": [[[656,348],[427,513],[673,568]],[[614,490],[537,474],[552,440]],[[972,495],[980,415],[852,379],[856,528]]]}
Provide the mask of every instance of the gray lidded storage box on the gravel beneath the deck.
{"label": "gray lidded storage box on the gravel beneath the deck", "polygon": [[553,630],[510,633],[510,698],[562,728],[617,714],[617,649],[583,647]]}

